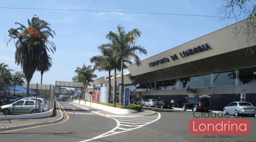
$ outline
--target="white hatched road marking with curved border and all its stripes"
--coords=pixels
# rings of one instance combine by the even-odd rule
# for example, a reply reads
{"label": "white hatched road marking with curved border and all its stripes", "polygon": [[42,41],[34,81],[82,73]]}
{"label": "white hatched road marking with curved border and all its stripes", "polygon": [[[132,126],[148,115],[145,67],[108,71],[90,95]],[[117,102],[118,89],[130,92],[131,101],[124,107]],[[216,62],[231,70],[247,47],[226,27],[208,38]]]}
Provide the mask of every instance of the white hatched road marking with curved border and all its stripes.
{"label": "white hatched road marking with curved border and all its stripes", "polygon": [[[107,137],[107,136],[110,136],[110,135],[115,135],[117,133],[122,133],[122,132],[127,132],[127,131],[131,131],[131,130],[134,130],[134,129],[137,129],[137,128],[141,128],[145,125],[148,125],[150,123],[153,123],[157,120],[159,120],[161,118],[161,115],[160,113],[158,113],[158,116],[156,116],[155,118],[152,118],[152,120],[149,120],[149,119],[143,119],[143,118],[147,118],[148,116],[140,116],[140,117],[124,117],[124,116],[115,116],[115,117],[111,117],[111,116],[106,116],[106,117],[109,117],[109,118],[113,118],[116,122],[117,122],[117,126],[115,128],[113,128],[112,130],[110,130],[109,132],[107,133],[103,133],[97,137],[94,137],[92,139],[88,139],[88,140],[83,140],[83,141],[80,141],[80,142],[88,142],[90,140],[96,140],[96,139],[100,139],[102,137]],[[123,118],[123,119],[126,119],[126,120],[123,120],[123,119],[120,119],[120,118]],[[129,119],[129,118],[133,118],[133,119]],[[128,123],[128,122],[124,122],[124,121],[128,121],[129,120],[136,120],[138,123]],[[120,123],[128,123],[128,124],[139,124],[139,122],[141,122],[141,120],[148,120],[150,122],[145,122],[146,124],[141,124],[141,125],[124,125],[124,124],[120,124]],[[122,128],[120,126],[127,126],[127,127],[135,127],[135,128]],[[120,131],[120,132],[115,132],[115,130],[117,129],[120,129],[120,130],[123,130],[123,131]]]}

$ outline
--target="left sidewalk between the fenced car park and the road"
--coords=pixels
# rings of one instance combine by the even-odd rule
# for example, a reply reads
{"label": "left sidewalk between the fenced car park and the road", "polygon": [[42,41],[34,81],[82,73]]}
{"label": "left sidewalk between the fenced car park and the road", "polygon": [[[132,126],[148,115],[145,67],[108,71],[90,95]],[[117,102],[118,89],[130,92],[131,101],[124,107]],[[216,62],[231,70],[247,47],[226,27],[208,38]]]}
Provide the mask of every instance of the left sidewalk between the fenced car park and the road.
{"label": "left sidewalk between the fenced car park and the road", "polygon": [[62,112],[60,112],[59,105],[56,102],[53,108],[52,116],[38,119],[0,120],[0,131],[57,123],[63,118],[64,116],[62,115]]}

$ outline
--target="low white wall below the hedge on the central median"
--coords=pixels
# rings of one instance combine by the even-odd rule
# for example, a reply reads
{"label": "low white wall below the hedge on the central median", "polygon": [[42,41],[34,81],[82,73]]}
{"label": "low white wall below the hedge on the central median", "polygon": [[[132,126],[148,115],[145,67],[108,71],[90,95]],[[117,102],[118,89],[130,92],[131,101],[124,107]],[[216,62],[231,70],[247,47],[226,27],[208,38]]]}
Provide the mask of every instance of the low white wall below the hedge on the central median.
{"label": "low white wall below the hedge on the central median", "polygon": [[[86,106],[90,106],[90,102],[88,102],[88,101],[74,100],[74,103],[84,104]],[[104,111],[108,111],[108,112],[111,112],[111,113],[115,113],[117,115],[127,115],[127,114],[131,114],[131,113],[139,112],[139,111],[136,111],[136,110],[115,108],[115,107],[112,107],[112,106],[105,106],[105,105],[96,104],[96,103],[91,103],[91,107],[101,109],[101,110],[104,110]]]}

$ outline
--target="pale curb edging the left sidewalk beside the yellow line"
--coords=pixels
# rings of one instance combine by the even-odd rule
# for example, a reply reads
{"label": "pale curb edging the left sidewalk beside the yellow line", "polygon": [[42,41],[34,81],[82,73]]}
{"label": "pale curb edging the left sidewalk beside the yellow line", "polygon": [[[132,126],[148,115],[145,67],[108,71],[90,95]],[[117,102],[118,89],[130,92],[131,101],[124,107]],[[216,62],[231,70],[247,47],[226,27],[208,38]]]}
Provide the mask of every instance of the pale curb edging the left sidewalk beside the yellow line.
{"label": "pale curb edging the left sidewalk beside the yellow line", "polygon": [[[57,102],[57,101],[56,101],[56,102]],[[59,108],[60,108],[60,105],[59,105],[59,104],[58,104],[58,106],[59,106]],[[63,120],[63,118],[64,118],[61,109],[60,109],[60,113],[61,113],[61,118],[59,118],[58,120],[48,121],[48,122],[32,123],[32,124],[27,124],[27,125],[12,126],[12,127],[2,127],[2,128],[0,128],[0,131],[12,130],[12,129],[19,129],[19,128],[27,128],[27,127],[32,127],[32,126],[36,126],[36,125],[46,125],[46,124],[57,123],[57,122]]]}

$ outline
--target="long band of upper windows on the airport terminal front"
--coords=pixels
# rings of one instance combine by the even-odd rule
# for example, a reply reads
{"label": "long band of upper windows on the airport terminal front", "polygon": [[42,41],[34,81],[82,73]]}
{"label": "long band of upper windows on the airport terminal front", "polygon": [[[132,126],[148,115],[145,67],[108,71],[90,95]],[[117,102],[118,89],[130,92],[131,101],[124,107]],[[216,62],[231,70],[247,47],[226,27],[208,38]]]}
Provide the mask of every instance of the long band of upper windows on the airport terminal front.
{"label": "long band of upper windows on the airport terminal front", "polygon": [[[239,74],[238,77],[236,75]],[[204,78],[203,78],[204,77]],[[231,70],[228,72],[212,73],[194,77],[182,77],[177,79],[163,80],[156,82],[156,90],[187,89],[199,87],[231,86],[243,84],[256,84],[256,67]],[[204,80],[205,79],[205,80]],[[206,84],[207,82],[207,84]],[[155,89],[155,82],[136,85],[135,91],[151,91]],[[134,90],[134,89],[132,89]]]}

